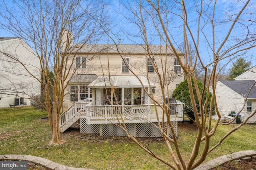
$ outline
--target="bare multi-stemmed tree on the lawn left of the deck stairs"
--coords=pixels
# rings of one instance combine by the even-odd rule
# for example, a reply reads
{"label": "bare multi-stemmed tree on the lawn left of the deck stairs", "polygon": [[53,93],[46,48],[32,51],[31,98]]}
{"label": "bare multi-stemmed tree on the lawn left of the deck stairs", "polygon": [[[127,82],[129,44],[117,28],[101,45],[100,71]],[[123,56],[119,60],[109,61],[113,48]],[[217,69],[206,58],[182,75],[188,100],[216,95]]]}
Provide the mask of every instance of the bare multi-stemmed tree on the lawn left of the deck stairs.
{"label": "bare multi-stemmed tree on the lawn left of the deck stairs", "polygon": [[[14,3],[14,7],[11,8],[9,3]],[[86,43],[96,43],[102,36],[94,18],[104,25],[106,21],[105,16],[102,15],[104,4],[82,0],[14,0],[1,2],[0,6],[2,9],[0,27],[26,41],[40,61],[37,70],[41,71],[42,80],[33,72],[27,71],[42,84],[44,106],[48,112],[52,132],[51,143],[58,145],[62,143],[59,122],[64,91],[79,68],[78,65],[84,64],[81,62],[76,65],[76,51]],[[2,53],[26,69],[26,64],[15,56],[8,52]],[[68,64],[68,60],[72,63]],[[48,81],[48,70],[54,72],[54,84]]]}

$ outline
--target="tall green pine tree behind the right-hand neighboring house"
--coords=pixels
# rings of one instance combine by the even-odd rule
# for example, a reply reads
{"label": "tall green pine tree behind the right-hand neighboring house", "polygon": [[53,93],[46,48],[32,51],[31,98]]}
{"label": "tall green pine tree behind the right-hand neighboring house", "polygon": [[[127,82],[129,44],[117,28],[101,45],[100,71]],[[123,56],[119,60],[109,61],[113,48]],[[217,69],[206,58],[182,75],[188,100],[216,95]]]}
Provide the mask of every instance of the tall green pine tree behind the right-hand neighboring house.
{"label": "tall green pine tree behind the right-hand neighboring house", "polygon": [[232,68],[230,69],[230,73],[228,75],[227,80],[234,80],[240,74],[246,72],[251,68],[251,62],[246,62],[244,58],[239,58],[236,62],[233,63]]}

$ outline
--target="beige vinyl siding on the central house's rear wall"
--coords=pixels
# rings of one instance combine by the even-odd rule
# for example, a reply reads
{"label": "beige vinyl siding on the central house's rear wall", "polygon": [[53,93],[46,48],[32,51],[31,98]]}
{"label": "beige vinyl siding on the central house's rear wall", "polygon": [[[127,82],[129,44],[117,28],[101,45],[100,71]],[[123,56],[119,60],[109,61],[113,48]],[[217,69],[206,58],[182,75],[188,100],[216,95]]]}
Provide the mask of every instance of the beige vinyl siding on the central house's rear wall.
{"label": "beige vinyl siding on the central house's rear wall", "polygon": [[[101,55],[87,55],[87,54],[78,54],[76,57],[87,57],[87,68],[78,68],[76,74],[96,74],[97,76],[108,74],[112,76],[125,76],[125,75],[133,75],[132,72],[136,75],[142,75],[148,78],[156,84],[156,93],[154,96],[158,101],[162,100],[162,91],[160,87],[160,83],[158,80],[158,76],[156,72],[148,73],[147,72],[147,58],[145,54],[134,54],[134,53],[126,53],[124,57],[130,58],[130,71],[129,73],[122,73],[122,57],[119,54],[101,54]],[[162,66],[166,67],[168,75],[168,81],[170,81],[170,85],[165,89],[165,94],[169,96],[172,95],[172,92],[176,88],[176,83],[180,83],[184,81],[184,74],[182,73],[174,73],[174,56],[160,56],[154,55],[155,64],[158,67],[158,71],[160,74],[163,74]],[[68,60],[69,65],[72,64],[72,59]],[[166,64],[166,66],[165,66]],[[72,65],[72,69],[75,69],[75,59]],[[68,90],[66,90],[68,93]],[[72,102],[69,102],[70,95],[66,95],[64,99],[64,110],[72,105]]]}

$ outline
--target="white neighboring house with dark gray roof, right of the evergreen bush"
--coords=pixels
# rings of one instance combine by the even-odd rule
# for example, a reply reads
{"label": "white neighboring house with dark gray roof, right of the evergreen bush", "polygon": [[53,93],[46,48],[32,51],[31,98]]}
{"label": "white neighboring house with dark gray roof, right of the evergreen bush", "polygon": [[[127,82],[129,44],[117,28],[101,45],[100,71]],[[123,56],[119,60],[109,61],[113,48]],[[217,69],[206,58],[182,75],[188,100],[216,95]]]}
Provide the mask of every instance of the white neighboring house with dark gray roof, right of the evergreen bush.
{"label": "white neighboring house with dark gray roof, right of the evergreen bush", "polygon": [[[256,109],[256,86],[254,80],[218,81],[216,102],[221,120],[228,119],[230,113],[239,113],[240,121],[245,121]],[[213,118],[217,119],[215,115]],[[254,123],[256,115],[247,122]]]}

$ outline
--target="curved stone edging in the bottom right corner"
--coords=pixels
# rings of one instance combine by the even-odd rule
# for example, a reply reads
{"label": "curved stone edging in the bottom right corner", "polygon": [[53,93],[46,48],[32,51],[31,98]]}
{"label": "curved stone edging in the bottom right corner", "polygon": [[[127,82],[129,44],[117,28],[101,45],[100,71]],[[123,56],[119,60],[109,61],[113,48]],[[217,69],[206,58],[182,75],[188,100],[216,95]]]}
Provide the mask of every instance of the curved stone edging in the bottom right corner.
{"label": "curved stone edging in the bottom right corner", "polygon": [[[240,158],[248,157],[248,156],[255,156],[256,151],[254,150],[244,150],[240,152],[235,152],[232,154],[233,160],[237,160]],[[226,154],[224,156],[220,156],[214,160],[211,160],[209,162],[206,162],[205,164],[202,164],[198,167],[196,167],[194,170],[209,170],[211,168],[215,168],[217,164],[224,164],[230,160],[232,160],[230,157],[230,154]]]}

